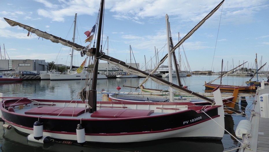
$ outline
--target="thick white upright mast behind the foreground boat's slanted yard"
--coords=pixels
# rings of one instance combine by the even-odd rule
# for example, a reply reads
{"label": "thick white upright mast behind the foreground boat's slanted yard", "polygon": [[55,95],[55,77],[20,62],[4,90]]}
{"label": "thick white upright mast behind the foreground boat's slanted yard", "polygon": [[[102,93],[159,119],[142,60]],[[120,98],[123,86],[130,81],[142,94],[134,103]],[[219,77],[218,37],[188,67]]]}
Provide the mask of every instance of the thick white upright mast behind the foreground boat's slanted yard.
{"label": "thick white upright mast behind the foreground boat's slanted yard", "polygon": [[[165,21],[166,21],[166,37],[167,37],[167,54],[168,54],[168,71],[169,71],[169,82],[172,83],[172,63],[171,63],[171,50],[170,50],[170,38],[169,38],[169,21],[168,21],[168,15],[165,15]],[[170,102],[174,101],[174,92],[173,88],[169,87],[169,100]]]}

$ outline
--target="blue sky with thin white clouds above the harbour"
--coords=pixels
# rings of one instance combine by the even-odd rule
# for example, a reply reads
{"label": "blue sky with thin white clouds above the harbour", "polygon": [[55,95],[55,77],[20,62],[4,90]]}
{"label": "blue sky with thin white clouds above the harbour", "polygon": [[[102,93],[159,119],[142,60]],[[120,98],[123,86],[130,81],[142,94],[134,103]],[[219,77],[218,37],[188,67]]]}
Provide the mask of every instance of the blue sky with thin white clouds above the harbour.
{"label": "blue sky with thin white clouds above the harbour", "polygon": [[[167,54],[165,14],[169,16],[175,45],[179,36],[183,38],[220,2],[221,0],[107,0],[102,50],[126,63],[139,63],[142,70],[152,69],[156,60],[160,61]],[[89,42],[84,43],[84,32],[96,23],[99,6],[100,0],[0,1],[2,59],[39,59],[70,65],[70,47],[52,43],[31,33],[27,37],[28,31],[10,26],[3,18],[72,41],[74,16],[77,13],[75,43],[87,46]],[[225,0],[176,50],[177,60],[181,59],[181,69],[218,72],[221,71],[222,59],[223,71],[243,62],[246,62],[244,67],[255,68],[257,53],[258,67],[267,62],[262,70],[268,71],[268,14],[268,0]],[[80,66],[84,59],[80,52],[74,50],[73,65]],[[168,65],[168,61],[163,65]]]}

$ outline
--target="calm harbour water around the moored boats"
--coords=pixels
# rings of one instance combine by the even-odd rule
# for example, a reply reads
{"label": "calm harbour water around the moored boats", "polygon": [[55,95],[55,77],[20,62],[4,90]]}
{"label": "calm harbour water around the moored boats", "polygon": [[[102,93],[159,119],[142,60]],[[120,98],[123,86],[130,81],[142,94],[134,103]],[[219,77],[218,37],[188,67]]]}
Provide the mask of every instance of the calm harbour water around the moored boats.
{"label": "calm harbour water around the moored boats", "polygon": [[[187,85],[188,89],[193,92],[205,92],[203,84],[211,81],[217,76],[207,75],[193,75],[182,79],[183,85]],[[245,85],[245,81],[250,77],[224,77],[222,84],[227,85]],[[168,78],[163,78],[168,80]],[[264,78],[265,79],[265,78]],[[97,91],[100,92],[105,89],[110,92],[116,92],[119,85],[122,89],[121,92],[135,92],[134,88],[123,87],[137,86],[143,78],[114,78],[114,79],[98,79]],[[85,81],[70,80],[70,81],[50,81],[50,80],[29,80],[19,83],[0,83],[0,92],[4,96],[17,96],[28,98],[46,98],[46,99],[63,99],[72,100],[76,98],[77,92],[84,86]],[[176,82],[176,79],[173,79]],[[214,83],[218,84],[220,80]],[[168,89],[166,86],[158,85],[149,80],[145,88]],[[136,90],[138,92],[140,90]],[[97,100],[101,100],[102,95],[97,95]],[[244,105],[251,109],[251,102],[254,98],[246,98],[248,105]],[[237,110],[244,110],[244,107],[237,106]],[[248,113],[246,111],[246,113]],[[225,129],[231,134],[235,134],[236,126],[240,120],[246,119],[242,116],[227,116],[225,117]],[[2,125],[3,122],[0,122]],[[109,126],[108,126],[109,127]],[[214,129],[214,128],[212,128]],[[201,130],[203,131],[203,130]],[[127,143],[127,144],[96,144],[87,143],[83,147],[78,145],[63,145],[60,143],[40,144],[27,141],[26,135],[19,134],[13,128],[8,130],[5,128],[0,129],[0,151],[11,152],[86,152],[86,151],[227,151],[239,146],[238,142],[233,139],[230,134],[225,132],[223,139],[218,142],[207,140],[180,140],[180,139],[164,139],[155,140],[141,143]],[[236,150],[234,150],[236,151]]]}

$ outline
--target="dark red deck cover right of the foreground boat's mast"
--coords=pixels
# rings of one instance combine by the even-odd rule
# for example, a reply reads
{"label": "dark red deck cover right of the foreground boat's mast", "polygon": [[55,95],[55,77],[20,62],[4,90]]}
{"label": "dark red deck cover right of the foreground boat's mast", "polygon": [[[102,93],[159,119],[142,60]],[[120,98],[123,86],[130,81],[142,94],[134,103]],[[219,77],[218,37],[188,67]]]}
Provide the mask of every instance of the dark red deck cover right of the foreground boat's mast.
{"label": "dark red deck cover right of the foreground boat's mast", "polygon": [[154,110],[137,109],[99,109],[91,114],[93,118],[130,118],[144,117],[154,113]]}

